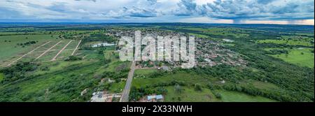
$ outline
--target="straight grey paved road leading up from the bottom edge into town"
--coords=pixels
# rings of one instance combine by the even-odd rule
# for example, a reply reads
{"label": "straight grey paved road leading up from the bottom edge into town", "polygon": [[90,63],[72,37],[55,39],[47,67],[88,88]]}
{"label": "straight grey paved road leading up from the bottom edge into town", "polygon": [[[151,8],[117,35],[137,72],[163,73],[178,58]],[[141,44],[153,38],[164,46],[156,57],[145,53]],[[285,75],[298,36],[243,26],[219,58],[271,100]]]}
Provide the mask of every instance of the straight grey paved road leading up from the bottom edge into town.
{"label": "straight grey paved road leading up from the bottom edge into town", "polygon": [[123,95],[120,97],[119,102],[128,102],[129,101],[130,87],[132,85],[132,77],[134,76],[134,66],[136,66],[136,61],[132,61],[132,65],[130,66],[130,71],[128,73],[128,78],[127,78],[127,82],[125,85],[125,89],[123,91]]}

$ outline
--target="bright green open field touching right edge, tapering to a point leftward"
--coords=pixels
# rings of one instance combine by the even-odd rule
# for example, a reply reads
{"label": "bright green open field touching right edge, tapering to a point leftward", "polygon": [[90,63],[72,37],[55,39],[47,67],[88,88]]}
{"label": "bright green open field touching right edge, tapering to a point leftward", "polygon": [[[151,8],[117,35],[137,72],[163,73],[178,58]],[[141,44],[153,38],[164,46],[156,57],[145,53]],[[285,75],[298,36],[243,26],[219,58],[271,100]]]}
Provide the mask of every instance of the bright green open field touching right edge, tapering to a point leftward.
{"label": "bright green open field touching right edge, tapering to a point leftward", "polygon": [[283,59],[292,64],[299,66],[307,66],[309,68],[314,67],[314,53],[310,51],[310,48],[294,49],[288,52],[288,55],[272,55],[273,57]]}

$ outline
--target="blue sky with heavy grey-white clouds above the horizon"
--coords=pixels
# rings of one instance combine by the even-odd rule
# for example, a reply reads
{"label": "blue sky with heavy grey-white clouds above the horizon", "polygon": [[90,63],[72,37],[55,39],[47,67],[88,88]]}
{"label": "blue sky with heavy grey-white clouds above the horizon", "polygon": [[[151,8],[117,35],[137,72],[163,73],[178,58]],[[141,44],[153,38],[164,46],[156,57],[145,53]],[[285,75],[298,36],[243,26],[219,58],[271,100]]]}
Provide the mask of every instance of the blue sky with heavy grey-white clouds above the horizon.
{"label": "blue sky with heavy grey-white clouds above the horizon", "polygon": [[314,25],[314,0],[1,0],[0,22]]}

